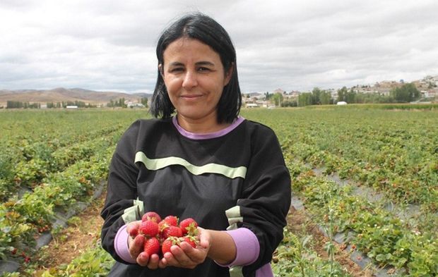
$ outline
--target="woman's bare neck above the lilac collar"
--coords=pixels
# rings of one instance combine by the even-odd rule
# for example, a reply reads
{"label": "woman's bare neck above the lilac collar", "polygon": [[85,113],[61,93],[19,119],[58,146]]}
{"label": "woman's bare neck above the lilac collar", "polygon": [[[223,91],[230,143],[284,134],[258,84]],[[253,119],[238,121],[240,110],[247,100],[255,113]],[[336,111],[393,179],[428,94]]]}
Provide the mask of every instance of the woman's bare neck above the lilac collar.
{"label": "woman's bare neck above the lilac collar", "polygon": [[206,134],[227,128],[230,123],[218,123],[216,115],[207,118],[193,119],[177,114],[179,126],[190,133]]}

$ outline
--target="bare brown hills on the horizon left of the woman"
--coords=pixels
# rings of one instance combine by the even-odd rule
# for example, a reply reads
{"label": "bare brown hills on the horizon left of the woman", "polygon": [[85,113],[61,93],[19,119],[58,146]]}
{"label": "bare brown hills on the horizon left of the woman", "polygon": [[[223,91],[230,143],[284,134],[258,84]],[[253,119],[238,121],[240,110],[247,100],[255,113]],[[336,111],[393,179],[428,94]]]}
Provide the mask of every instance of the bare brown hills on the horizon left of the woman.
{"label": "bare brown hills on the horizon left of the woman", "polygon": [[105,105],[111,100],[116,101],[120,98],[137,102],[142,97],[150,98],[152,94],[97,92],[94,90],[83,90],[81,88],[65,89],[64,87],[58,87],[53,90],[0,90],[0,106],[6,106],[7,101],[38,102],[41,104],[62,101],[83,101],[89,104]]}

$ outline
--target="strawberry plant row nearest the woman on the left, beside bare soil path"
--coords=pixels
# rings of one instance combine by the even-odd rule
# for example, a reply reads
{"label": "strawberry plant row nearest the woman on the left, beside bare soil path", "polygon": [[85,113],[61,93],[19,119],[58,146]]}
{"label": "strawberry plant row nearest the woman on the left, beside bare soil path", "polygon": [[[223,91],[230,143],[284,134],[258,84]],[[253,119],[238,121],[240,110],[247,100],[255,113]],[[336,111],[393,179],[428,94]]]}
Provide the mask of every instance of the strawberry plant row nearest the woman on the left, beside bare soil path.
{"label": "strawberry plant row nearest the woman on the left, beside bare soil path", "polygon": [[0,205],[0,256],[5,259],[11,251],[30,251],[35,235],[52,228],[55,209],[67,210],[79,200],[93,195],[95,186],[107,177],[113,147],[96,152],[90,159],[81,160],[65,171],[52,173],[42,185],[21,199],[10,199]]}

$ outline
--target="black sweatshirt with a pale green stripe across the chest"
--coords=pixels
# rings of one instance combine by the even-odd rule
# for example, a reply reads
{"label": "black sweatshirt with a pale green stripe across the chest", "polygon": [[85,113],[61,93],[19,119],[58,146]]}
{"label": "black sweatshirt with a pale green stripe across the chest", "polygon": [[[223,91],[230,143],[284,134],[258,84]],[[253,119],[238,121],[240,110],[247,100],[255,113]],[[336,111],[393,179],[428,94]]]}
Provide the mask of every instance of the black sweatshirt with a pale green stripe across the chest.
{"label": "black sweatshirt with a pale green stripe across the chest", "polygon": [[[144,211],[191,217],[203,228],[226,230],[225,211],[233,207],[240,219],[230,228],[249,228],[259,240],[259,258],[242,268],[244,276],[255,276],[283,239],[290,207],[290,175],[275,133],[244,120],[225,134],[196,137],[183,134],[175,123],[171,118],[136,121],[117,144],[101,213],[102,246],[117,260],[110,276],[230,276],[208,258],[195,269],[127,264],[115,252],[114,237]],[[136,199],[144,207],[135,207]]]}

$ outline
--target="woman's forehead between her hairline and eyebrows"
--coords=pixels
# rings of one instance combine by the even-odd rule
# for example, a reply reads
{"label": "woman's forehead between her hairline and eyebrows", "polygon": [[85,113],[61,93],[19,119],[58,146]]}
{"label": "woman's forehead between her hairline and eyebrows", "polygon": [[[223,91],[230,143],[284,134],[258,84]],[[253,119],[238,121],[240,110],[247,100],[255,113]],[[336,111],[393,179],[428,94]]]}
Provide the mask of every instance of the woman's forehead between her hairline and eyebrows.
{"label": "woman's forehead between her hairline and eyebrows", "polygon": [[198,39],[182,37],[170,43],[163,52],[164,61],[220,61],[219,54]]}

